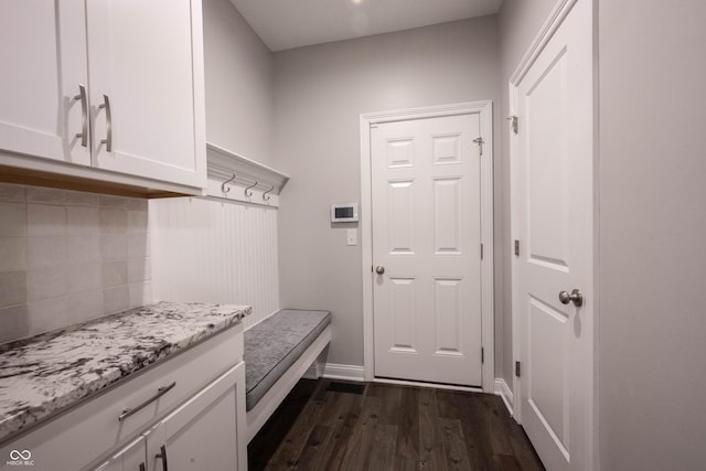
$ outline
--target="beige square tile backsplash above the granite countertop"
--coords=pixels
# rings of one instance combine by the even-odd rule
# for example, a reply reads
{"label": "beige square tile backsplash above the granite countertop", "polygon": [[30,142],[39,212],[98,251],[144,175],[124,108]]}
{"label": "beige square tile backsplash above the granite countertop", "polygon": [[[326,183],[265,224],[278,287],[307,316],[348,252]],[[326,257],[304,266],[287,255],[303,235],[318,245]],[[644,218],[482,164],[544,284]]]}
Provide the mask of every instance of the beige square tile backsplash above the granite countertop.
{"label": "beige square tile backsplash above the granite countertop", "polygon": [[0,343],[151,298],[147,200],[0,183]]}

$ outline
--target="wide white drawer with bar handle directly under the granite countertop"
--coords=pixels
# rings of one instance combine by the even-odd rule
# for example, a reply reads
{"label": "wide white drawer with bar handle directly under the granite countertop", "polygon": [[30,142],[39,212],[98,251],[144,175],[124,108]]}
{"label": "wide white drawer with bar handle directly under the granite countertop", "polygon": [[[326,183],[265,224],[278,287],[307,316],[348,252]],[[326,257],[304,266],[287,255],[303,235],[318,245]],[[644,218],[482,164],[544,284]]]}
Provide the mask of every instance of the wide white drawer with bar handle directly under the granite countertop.
{"label": "wide white drawer with bar handle directly under the granite countertop", "polygon": [[12,450],[29,451],[35,471],[76,471],[95,464],[242,360],[240,323],[135,373],[3,446],[0,469],[17,469],[6,463]]}

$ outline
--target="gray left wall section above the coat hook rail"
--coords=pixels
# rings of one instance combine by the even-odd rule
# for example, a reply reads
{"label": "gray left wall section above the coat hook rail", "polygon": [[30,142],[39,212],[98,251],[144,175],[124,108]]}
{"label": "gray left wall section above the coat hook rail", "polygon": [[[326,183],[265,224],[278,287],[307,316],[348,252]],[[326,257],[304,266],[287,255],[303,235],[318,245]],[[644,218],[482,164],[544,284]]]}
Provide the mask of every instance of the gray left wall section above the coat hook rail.
{"label": "gray left wall section above the coat hook rail", "polygon": [[204,0],[206,139],[272,161],[272,54],[228,0]]}

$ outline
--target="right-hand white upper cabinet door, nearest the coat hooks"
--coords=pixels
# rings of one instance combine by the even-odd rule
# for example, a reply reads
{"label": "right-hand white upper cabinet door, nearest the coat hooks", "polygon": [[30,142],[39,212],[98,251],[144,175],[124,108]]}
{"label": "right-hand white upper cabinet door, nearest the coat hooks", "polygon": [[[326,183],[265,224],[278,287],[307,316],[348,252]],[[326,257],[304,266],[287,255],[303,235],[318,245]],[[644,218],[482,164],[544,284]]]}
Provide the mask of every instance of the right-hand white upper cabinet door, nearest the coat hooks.
{"label": "right-hand white upper cabinet door, nearest the coat hooks", "polygon": [[93,164],[205,186],[201,2],[87,0],[86,15]]}

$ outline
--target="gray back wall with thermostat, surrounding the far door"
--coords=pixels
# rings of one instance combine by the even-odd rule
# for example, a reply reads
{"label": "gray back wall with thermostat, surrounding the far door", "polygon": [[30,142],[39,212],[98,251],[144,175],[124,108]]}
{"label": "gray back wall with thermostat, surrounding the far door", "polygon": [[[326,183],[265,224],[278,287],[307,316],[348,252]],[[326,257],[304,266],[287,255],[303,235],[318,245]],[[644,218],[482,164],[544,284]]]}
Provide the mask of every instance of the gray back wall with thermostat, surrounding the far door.
{"label": "gray back wall with thermostat, surrounding the far door", "polygon": [[[332,203],[361,201],[362,113],[498,101],[495,17],[275,54],[281,306],[334,312],[328,361],[363,364],[361,246],[332,228]],[[359,234],[360,235],[360,234]]]}

